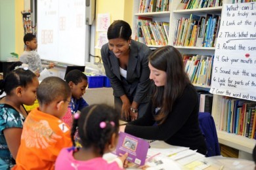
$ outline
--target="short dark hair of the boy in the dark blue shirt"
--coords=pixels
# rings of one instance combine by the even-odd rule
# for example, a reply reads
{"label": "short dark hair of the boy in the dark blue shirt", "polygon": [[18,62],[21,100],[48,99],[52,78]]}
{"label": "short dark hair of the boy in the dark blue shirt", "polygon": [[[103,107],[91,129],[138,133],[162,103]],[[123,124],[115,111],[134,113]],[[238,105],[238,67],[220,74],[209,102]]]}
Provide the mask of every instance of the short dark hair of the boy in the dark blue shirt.
{"label": "short dark hair of the boy in the dark blue shirt", "polygon": [[81,72],[77,69],[74,69],[74,70],[68,72],[65,80],[68,83],[74,82],[74,84],[77,85],[79,82],[82,82],[82,80],[87,80],[87,76],[83,72]]}

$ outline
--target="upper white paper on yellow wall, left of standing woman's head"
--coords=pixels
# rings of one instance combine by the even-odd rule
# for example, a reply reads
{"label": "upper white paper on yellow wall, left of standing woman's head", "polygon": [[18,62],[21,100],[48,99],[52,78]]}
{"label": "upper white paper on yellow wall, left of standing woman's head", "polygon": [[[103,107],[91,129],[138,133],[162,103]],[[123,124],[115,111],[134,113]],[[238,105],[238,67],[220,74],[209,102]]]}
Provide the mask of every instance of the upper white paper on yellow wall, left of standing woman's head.
{"label": "upper white paper on yellow wall, left of standing woman's head", "polygon": [[96,31],[108,31],[110,26],[110,13],[98,14]]}

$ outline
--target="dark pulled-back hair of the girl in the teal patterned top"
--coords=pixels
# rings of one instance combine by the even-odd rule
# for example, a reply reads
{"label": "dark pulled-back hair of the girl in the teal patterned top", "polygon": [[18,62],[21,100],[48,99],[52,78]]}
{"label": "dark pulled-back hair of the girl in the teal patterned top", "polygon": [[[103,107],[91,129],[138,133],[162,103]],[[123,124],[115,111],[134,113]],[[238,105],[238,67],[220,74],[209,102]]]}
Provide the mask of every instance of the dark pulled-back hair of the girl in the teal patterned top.
{"label": "dark pulled-back hair of the girl in the teal patterned top", "polygon": [[27,87],[28,84],[33,82],[36,75],[29,69],[16,69],[7,74],[4,80],[0,80],[0,95],[5,92],[11,95],[12,89],[22,86]]}

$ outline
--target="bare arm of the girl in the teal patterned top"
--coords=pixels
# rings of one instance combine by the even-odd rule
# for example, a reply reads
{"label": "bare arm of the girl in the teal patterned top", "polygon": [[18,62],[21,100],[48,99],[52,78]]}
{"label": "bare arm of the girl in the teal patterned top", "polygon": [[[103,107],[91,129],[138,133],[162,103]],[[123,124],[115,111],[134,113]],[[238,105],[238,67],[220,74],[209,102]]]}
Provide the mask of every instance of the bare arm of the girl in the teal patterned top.
{"label": "bare arm of the girl in the teal patterned top", "polygon": [[20,138],[22,134],[22,128],[20,127],[11,127],[3,130],[5,139],[7,141],[8,148],[12,154],[14,160],[18,153],[18,148],[20,146]]}

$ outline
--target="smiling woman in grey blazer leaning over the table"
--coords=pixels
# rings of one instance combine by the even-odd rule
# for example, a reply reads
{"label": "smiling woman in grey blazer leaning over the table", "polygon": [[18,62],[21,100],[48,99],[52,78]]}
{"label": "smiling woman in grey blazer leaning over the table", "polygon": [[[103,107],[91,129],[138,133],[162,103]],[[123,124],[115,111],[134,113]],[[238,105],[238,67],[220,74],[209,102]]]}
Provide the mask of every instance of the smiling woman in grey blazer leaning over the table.
{"label": "smiling woman in grey blazer leaning over the table", "polygon": [[116,109],[123,120],[141,117],[150,102],[151,84],[148,46],[131,39],[131,27],[116,20],[108,27],[108,43],[101,48],[101,56],[114,90]]}

